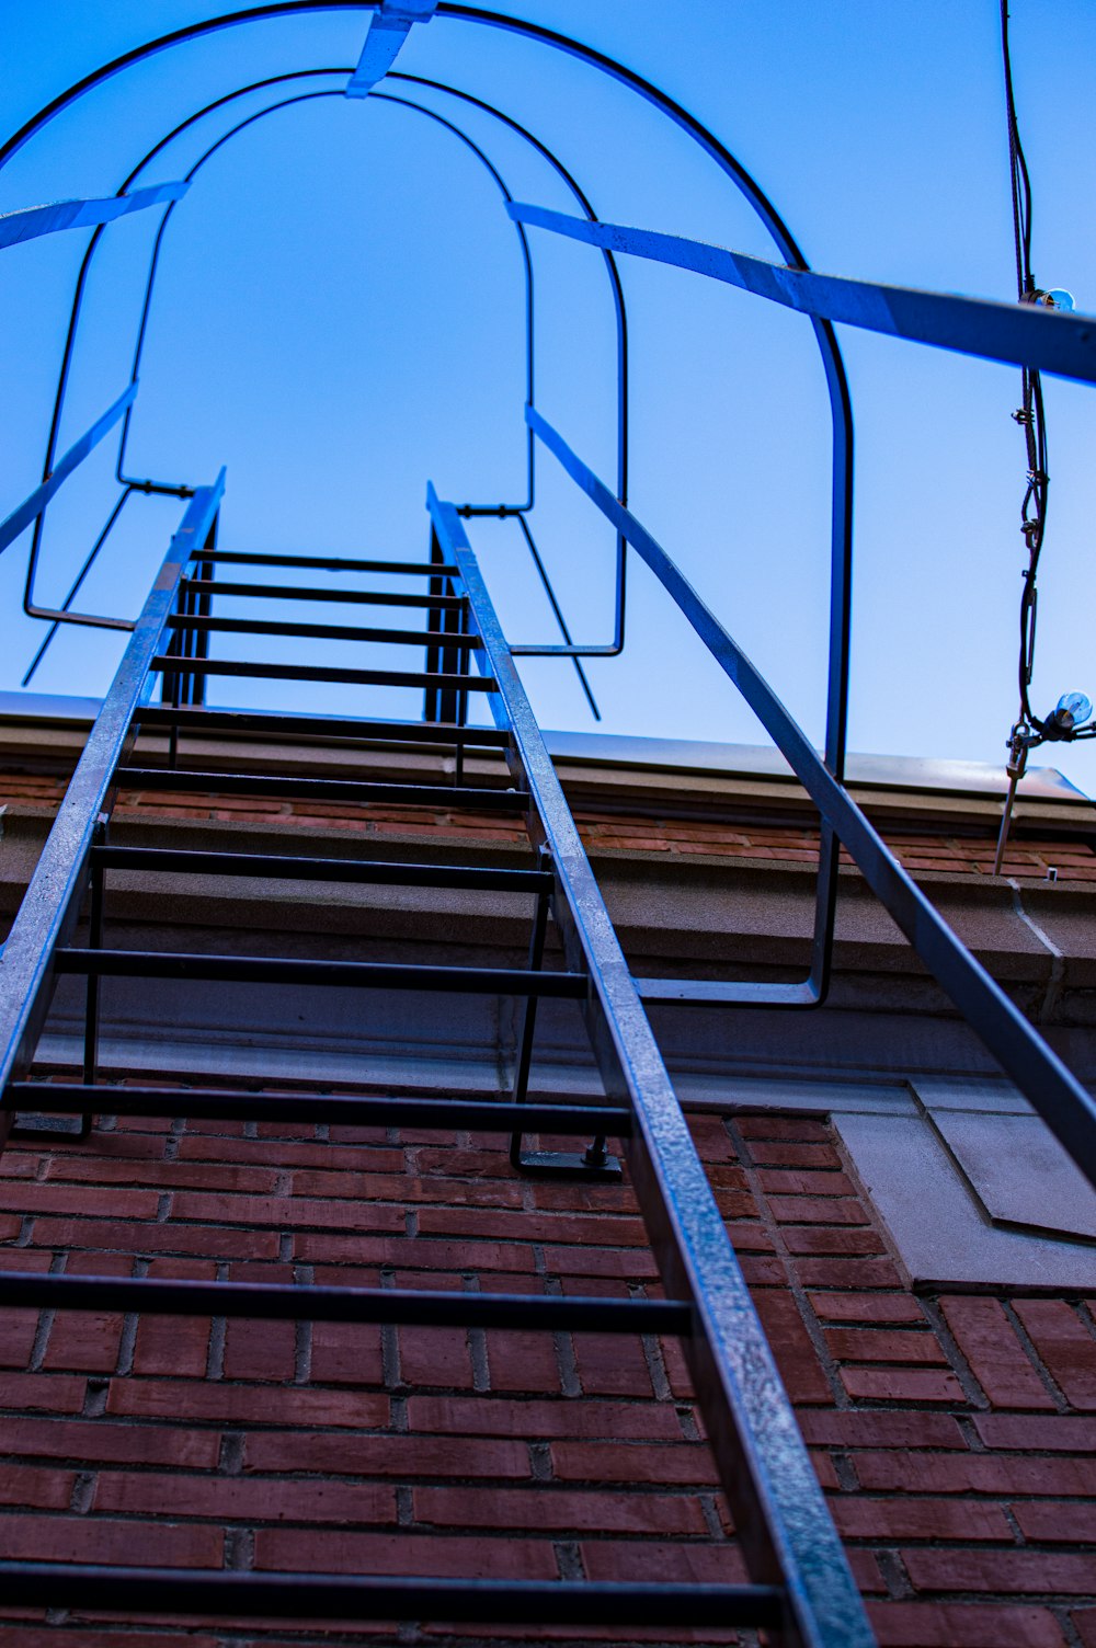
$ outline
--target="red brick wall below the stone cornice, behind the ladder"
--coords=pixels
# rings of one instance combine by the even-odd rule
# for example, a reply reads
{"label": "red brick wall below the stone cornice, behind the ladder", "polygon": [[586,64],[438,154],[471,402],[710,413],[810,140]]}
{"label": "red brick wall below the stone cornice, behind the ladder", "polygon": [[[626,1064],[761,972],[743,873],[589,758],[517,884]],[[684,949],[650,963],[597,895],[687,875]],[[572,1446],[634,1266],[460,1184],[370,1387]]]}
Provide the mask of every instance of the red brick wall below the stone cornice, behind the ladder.
{"label": "red brick wall below the stone cornice, behind the ladder", "polygon": [[[916,1299],[829,1127],[692,1117],[882,1643],[1096,1643],[1091,1304]],[[519,1182],[506,1140],[112,1122],[0,1159],[5,1267],[654,1292],[626,1187]],[[737,1579],[672,1341],[8,1313],[7,1557]],[[124,1604],[119,1604],[120,1610]],[[8,1615],[5,1648],[445,1641]],[[481,1633],[452,1633],[468,1648]],[[513,1640],[692,1638],[656,1630]],[[493,1640],[498,1640],[493,1638]],[[747,1638],[748,1640],[748,1638]]]}

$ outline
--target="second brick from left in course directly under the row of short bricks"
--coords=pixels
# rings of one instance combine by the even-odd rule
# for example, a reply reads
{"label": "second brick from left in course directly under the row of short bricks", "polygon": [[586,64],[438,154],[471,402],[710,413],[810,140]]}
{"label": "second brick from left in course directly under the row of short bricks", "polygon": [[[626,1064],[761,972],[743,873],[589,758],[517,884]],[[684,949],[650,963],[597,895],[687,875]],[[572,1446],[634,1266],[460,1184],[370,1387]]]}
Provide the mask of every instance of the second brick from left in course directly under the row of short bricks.
{"label": "second brick from left in course directly under the row of short bricks", "polygon": [[178,1419],[186,1414],[194,1422],[376,1429],[389,1422],[389,1399],[376,1393],[316,1391],[308,1386],[112,1379],[107,1412],[133,1419]]}

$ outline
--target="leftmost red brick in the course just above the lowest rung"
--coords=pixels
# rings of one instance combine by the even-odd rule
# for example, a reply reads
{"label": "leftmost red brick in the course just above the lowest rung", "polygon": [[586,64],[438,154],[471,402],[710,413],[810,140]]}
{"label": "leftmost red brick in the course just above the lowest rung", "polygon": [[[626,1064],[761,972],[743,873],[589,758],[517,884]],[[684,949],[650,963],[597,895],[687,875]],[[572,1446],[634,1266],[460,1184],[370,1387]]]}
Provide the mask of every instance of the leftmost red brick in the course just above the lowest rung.
{"label": "leftmost red brick in the course just above the lowest rung", "polygon": [[101,1516],[5,1516],[8,1562],[120,1562],[133,1567],[221,1567],[219,1528],[107,1521]]}

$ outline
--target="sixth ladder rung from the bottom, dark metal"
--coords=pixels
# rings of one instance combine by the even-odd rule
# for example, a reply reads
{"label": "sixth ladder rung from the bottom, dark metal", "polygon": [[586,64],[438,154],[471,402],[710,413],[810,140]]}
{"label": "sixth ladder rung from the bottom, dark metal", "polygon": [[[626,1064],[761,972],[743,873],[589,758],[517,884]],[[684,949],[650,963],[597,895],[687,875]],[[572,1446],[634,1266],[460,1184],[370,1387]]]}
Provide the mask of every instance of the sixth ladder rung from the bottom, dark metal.
{"label": "sixth ladder rung from the bottom, dark metal", "polygon": [[176,789],[186,794],[300,796],[311,801],[389,803],[400,808],[483,808],[486,812],[524,812],[526,789],[486,789],[470,784],[368,784],[354,778],[293,778],[280,773],[196,773],[181,766],[115,766],[124,789]]}

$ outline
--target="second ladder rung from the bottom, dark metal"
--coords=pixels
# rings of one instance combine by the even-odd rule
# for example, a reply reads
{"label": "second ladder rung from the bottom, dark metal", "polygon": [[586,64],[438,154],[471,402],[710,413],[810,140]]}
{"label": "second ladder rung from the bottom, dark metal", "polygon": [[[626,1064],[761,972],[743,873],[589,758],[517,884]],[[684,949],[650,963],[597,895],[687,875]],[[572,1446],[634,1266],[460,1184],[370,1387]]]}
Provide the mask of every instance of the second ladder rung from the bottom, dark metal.
{"label": "second ladder rung from the bottom, dark metal", "polygon": [[293,1282],[178,1282],[119,1276],[0,1271],[0,1307],[152,1310],[171,1317],[265,1322],[396,1322],[415,1327],[542,1328],[547,1333],[692,1332],[677,1299],[585,1299],[554,1294],[455,1294],[429,1287],[298,1287]]}

